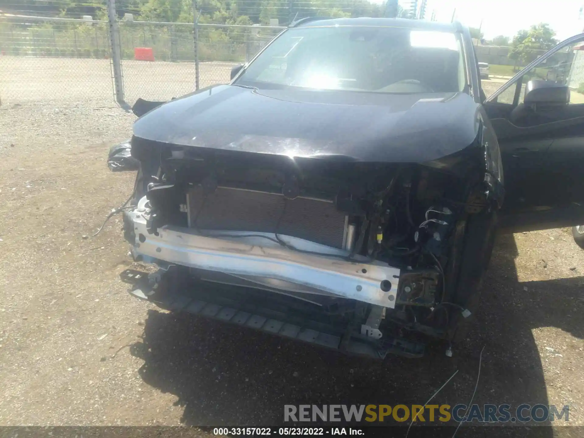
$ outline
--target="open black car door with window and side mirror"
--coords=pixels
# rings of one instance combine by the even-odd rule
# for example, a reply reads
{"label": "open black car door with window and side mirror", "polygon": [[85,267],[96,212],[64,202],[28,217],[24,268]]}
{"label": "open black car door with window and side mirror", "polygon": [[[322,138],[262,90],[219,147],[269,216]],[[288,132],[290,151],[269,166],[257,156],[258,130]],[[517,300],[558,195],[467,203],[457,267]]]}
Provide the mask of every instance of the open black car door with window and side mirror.
{"label": "open black car door with window and side mirror", "polygon": [[502,231],[584,223],[584,34],[531,62],[484,109],[503,161]]}

